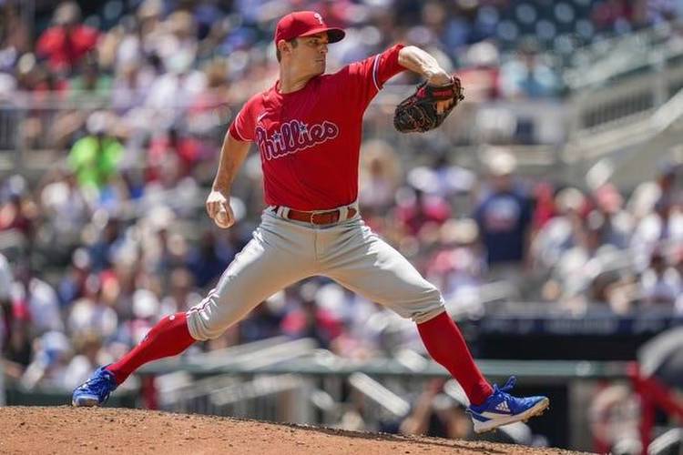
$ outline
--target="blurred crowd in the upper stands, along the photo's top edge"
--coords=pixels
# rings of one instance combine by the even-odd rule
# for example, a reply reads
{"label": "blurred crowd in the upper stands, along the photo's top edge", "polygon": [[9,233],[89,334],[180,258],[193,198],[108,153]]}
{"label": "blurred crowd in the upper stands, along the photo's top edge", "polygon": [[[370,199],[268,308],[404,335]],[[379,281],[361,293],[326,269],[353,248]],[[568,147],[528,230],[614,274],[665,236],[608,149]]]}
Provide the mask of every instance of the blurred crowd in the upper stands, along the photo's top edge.
{"label": "blurred crowd in the upper stands, along the photo's top edge", "polygon": [[[146,106],[206,109],[240,103],[270,86],[274,24],[292,9],[315,9],[347,29],[330,67],[392,45],[420,45],[446,69],[458,69],[484,97],[557,96],[561,77],[549,54],[678,16],[673,1],[406,0],[303,1],[108,0],[38,8],[0,8],[0,96],[16,90],[95,92],[118,114]],[[36,20],[40,19],[40,20]],[[532,36],[534,37],[532,39]],[[168,119],[169,120],[169,119]],[[131,120],[132,121],[132,120]],[[135,122],[133,122],[135,123]]]}

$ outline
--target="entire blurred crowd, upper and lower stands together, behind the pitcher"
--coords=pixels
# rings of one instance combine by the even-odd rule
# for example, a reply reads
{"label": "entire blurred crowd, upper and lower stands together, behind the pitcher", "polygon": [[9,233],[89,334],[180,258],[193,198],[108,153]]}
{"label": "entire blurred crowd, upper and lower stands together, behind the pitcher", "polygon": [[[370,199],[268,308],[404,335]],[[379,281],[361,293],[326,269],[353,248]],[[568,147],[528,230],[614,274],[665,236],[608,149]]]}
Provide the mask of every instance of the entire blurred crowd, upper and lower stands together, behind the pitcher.
{"label": "entire blurred crowd, upper and lower stands together, behind the pitcher", "polygon": [[[444,67],[459,69],[474,99],[560,95],[561,78],[539,54],[555,42],[517,39],[541,9],[557,24],[585,24],[586,39],[678,14],[668,2],[575,0],[562,4],[569,13],[554,2],[536,4],[529,12],[522,6],[530,4],[505,0],[448,7],[243,0],[229,8],[131,0],[108,1],[84,18],[67,2],[32,30],[20,3],[3,2],[0,101],[42,102],[23,120],[20,140],[64,151],[37,181],[15,175],[0,184],[5,373],[29,388],[75,387],[159,318],[197,304],[249,241],[263,208],[258,156],[248,158],[235,183],[236,227],[212,226],[203,201],[229,106],[273,82],[271,30],[291,8],[315,8],[349,30],[331,52],[331,66],[396,41],[421,45]],[[451,162],[448,147],[428,147],[428,163],[407,166],[408,152],[366,140],[361,210],[442,289],[454,314],[484,314],[492,285],[500,283],[505,298],[572,312],[595,304],[620,314],[683,309],[676,163],[663,164],[657,181],[627,195],[607,181],[576,188],[525,178],[505,148],[485,150],[482,168],[467,169]],[[412,328],[335,283],[311,279],[192,349],[285,334],[362,359],[406,343],[421,349]]]}

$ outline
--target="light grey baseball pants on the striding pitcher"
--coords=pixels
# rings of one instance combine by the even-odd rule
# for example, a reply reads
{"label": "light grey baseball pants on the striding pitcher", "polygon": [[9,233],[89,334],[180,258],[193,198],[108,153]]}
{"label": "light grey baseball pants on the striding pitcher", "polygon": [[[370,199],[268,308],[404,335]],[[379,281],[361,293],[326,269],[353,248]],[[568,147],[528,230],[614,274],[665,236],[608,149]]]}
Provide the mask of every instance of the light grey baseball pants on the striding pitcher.
{"label": "light grey baseball pants on the striding pitcher", "polygon": [[329,277],[416,323],[443,312],[437,288],[356,214],[315,226],[267,209],[216,288],[188,311],[194,339],[214,339],[266,298],[303,278]]}

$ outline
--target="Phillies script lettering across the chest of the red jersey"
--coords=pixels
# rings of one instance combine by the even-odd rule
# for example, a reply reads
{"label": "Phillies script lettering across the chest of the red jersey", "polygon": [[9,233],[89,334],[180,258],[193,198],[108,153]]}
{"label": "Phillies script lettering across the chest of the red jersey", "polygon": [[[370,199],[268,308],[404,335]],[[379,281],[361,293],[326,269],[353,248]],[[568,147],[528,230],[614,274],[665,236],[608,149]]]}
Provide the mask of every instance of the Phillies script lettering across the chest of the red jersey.
{"label": "Phillies script lettering across the chest of the red jersey", "polygon": [[276,159],[322,144],[339,136],[339,126],[325,120],[308,126],[299,120],[284,122],[268,136],[262,126],[256,127],[256,143],[266,159]]}

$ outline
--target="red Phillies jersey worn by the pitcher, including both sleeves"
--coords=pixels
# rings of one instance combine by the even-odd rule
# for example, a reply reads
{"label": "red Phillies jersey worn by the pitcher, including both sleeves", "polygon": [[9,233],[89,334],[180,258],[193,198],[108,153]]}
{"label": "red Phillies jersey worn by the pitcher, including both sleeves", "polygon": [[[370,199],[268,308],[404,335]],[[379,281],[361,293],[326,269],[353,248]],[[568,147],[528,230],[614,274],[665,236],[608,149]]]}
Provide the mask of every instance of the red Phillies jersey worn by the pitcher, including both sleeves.
{"label": "red Phillies jersey worn by the pitcher, including both sleeves", "polygon": [[321,210],[356,200],[362,116],[405,69],[402,48],[313,77],[296,92],[281,94],[278,82],[242,107],[229,133],[259,147],[266,204]]}

